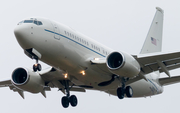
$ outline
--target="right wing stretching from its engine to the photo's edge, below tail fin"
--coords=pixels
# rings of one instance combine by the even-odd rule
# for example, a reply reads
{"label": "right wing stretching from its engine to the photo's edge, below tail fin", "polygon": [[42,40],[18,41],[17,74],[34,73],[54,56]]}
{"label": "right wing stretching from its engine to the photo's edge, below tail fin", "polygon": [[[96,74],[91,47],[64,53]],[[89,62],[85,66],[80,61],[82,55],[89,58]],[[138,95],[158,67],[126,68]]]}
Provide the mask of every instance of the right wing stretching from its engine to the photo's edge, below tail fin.
{"label": "right wing stretching from its engine to the photo's edge, below tail fin", "polygon": [[159,70],[169,74],[169,70],[180,67],[180,52],[159,53],[134,56],[141,65],[144,74]]}

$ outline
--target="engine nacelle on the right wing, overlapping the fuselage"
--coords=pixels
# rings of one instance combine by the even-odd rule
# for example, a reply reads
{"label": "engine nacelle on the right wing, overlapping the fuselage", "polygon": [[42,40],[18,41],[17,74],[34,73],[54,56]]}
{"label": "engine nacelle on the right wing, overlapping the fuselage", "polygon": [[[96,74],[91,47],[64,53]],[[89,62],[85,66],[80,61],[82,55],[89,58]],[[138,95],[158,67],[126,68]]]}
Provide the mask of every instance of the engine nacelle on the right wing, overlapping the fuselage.
{"label": "engine nacelle on the right wing, overlapping the fuselage", "polygon": [[106,60],[109,70],[116,75],[122,77],[133,78],[140,72],[140,65],[127,53],[112,52],[108,55]]}

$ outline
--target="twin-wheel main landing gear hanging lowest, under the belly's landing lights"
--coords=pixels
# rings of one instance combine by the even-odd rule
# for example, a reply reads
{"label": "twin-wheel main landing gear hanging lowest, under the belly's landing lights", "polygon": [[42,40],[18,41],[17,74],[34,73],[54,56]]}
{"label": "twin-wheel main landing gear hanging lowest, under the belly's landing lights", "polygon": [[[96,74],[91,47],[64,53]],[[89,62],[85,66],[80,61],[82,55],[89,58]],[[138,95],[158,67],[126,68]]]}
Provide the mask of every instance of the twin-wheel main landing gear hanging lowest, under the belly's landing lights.
{"label": "twin-wheel main landing gear hanging lowest, under the belly's landing lights", "polygon": [[69,103],[71,104],[72,107],[77,106],[77,104],[78,104],[77,97],[75,95],[70,96],[69,82],[68,81],[63,81],[63,84],[65,86],[66,96],[62,97],[62,99],[61,99],[62,106],[64,108],[68,108]]}

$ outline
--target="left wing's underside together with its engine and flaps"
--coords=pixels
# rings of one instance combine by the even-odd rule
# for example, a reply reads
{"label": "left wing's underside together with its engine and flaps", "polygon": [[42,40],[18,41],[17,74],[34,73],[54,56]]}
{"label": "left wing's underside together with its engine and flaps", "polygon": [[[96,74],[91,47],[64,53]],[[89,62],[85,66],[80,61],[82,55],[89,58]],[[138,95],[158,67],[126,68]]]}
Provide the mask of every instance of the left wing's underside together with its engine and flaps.
{"label": "left wing's underside together with its engine and flaps", "polygon": [[[28,68],[17,68],[12,74],[12,80],[0,81],[0,87],[9,87],[10,90],[18,92],[24,98],[24,91],[41,93],[46,97],[46,91],[58,88],[63,93],[69,91],[85,92],[85,87],[75,84],[73,78],[65,78],[62,70],[49,67],[39,72]],[[31,79],[30,79],[31,78]],[[76,80],[76,83],[78,81]],[[68,84],[68,85],[67,85]]]}

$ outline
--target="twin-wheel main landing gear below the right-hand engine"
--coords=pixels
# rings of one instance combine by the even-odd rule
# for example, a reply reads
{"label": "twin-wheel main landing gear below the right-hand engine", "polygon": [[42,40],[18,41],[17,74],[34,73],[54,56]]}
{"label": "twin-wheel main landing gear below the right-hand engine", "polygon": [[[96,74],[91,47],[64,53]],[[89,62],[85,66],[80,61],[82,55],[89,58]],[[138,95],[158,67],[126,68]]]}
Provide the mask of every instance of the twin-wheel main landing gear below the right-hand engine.
{"label": "twin-wheel main landing gear below the right-hand engine", "polygon": [[131,88],[131,86],[125,87],[125,79],[122,78],[122,87],[119,87],[117,89],[117,96],[119,99],[123,99],[124,94],[126,94],[128,98],[131,98],[133,96],[133,89]]}

